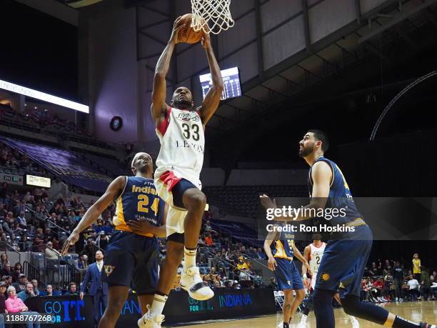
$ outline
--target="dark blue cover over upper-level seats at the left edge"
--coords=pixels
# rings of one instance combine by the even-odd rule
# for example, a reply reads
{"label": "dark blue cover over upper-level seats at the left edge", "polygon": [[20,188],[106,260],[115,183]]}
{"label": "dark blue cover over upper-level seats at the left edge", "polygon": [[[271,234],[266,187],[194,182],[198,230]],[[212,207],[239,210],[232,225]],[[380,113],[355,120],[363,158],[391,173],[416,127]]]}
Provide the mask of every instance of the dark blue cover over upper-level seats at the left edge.
{"label": "dark blue cover over upper-level seats at the left edge", "polygon": [[41,167],[56,175],[60,179],[77,187],[88,189],[93,192],[105,192],[112,179],[81,161],[79,157],[70,151],[56,149],[39,144],[31,144],[0,136],[4,144],[26,153],[30,159],[36,161]]}

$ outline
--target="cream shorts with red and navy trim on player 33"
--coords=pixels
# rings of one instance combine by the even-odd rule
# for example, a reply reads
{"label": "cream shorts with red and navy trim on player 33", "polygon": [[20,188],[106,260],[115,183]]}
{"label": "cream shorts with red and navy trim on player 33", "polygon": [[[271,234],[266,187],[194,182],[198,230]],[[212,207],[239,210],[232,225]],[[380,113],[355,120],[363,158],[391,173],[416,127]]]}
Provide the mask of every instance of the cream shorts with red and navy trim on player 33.
{"label": "cream shorts with red and navy trim on player 33", "polygon": [[158,179],[155,179],[156,191],[159,197],[164,199],[164,202],[169,205],[166,219],[167,237],[175,233],[184,234],[184,221],[187,211],[184,208],[182,196],[187,189],[201,189],[201,182],[198,181],[196,184],[188,179],[176,177],[174,172],[171,171],[166,171]]}

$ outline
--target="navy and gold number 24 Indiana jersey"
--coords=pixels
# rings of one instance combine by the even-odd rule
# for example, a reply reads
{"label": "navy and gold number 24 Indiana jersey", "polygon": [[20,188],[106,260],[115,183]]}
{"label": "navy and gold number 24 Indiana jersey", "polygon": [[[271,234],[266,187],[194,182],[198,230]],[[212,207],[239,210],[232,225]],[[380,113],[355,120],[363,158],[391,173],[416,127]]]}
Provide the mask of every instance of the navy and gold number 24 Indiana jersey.
{"label": "navy and gold number 24 Indiana jersey", "polygon": [[[166,203],[158,196],[154,180],[143,177],[126,177],[126,185],[116,201],[116,230],[132,232],[129,220],[144,219],[156,227],[161,226]],[[153,234],[141,234],[154,237]]]}

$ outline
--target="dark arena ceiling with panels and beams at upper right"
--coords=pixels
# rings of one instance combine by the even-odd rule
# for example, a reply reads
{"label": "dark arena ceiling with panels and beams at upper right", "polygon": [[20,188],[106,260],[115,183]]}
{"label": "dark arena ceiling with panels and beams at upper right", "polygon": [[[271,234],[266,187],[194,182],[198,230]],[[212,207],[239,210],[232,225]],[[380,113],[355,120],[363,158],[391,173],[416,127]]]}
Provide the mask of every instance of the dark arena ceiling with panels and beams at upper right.
{"label": "dark arena ceiling with panels and beams at upper right", "polygon": [[[263,121],[266,116],[271,116],[274,112],[277,117],[278,111],[286,111],[286,115],[296,116],[300,109],[304,109],[308,100],[317,101],[323,96],[333,96],[335,91],[331,85],[330,88],[325,88],[319,91],[316,96],[311,96],[311,99],[301,99],[303,94],[308,94],[323,82],[329,81],[333,76],[341,76],[346,74],[350,69],[359,64],[368,61],[369,57],[376,57],[383,61],[383,64],[388,66],[396,64],[400,58],[396,54],[391,54],[390,49],[395,45],[401,44],[406,51],[402,59],[408,56],[413,56],[415,51],[420,50],[426,44],[416,41],[413,37],[415,31],[423,26],[429,26],[430,29],[435,29],[437,26],[437,0],[428,1],[379,1],[380,6],[376,6],[366,14],[361,14],[358,9],[356,11],[356,20],[351,24],[343,26],[338,31],[333,32],[327,37],[311,42],[310,25],[317,22],[311,22],[311,16],[308,16],[308,11],[322,1],[303,1],[303,14],[305,22],[305,44],[306,47],[302,51],[290,56],[279,64],[271,66],[268,69],[263,69],[263,58],[266,54],[263,53],[261,45],[266,34],[273,29],[281,29],[282,26],[288,24],[296,16],[291,16],[281,24],[274,26],[270,31],[262,31],[261,21],[259,19],[260,6],[267,4],[273,0],[256,0],[253,8],[246,12],[238,13],[234,17],[236,25],[233,29],[238,28],[239,21],[243,21],[246,16],[256,14],[256,37],[247,42],[241,42],[241,47],[221,57],[220,60],[226,60],[229,56],[236,54],[248,44],[256,44],[258,51],[258,75],[252,79],[245,81],[242,85],[243,96],[228,101],[222,101],[217,114],[209,122],[208,136],[214,141],[221,142],[226,136],[231,136],[234,133],[238,134],[238,130],[247,124],[256,124]],[[357,8],[360,8],[360,1],[356,0]],[[148,33],[147,29],[159,24],[166,24],[174,19],[174,10],[171,10],[171,4],[162,9],[156,9],[153,6],[154,1],[137,1],[127,0],[126,5],[136,5],[138,10],[154,12],[161,15],[161,20],[151,21],[145,26],[138,26],[138,38],[151,41],[163,41],[154,38],[154,35]],[[164,4],[161,2],[161,4]],[[168,8],[168,9],[165,9]],[[141,44],[141,42],[140,42]],[[141,46],[140,46],[141,48]],[[148,49],[151,49],[149,46]],[[183,50],[185,51],[185,49]],[[161,53],[156,51],[156,54],[143,54],[139,49],[139,60],[156,58]],[[393,56],[394,55],[394,56]],[[154,71],[154,65],[148,67],[151,72]],[[378,72],[378,69],[368,71],[368,74]],[[199,72],[196,72],[199,74]],[[354,79],[361,79],[366,74],[357,74]],[[178,81],[177,74],[169,77],[170,84],[172,79]],[[336,79],[337,84],[341,81]],[[351,79],[343,81],[343,84],[350,84]],[[327,92],[328,91],[328,92]],[[280,121],[280,119],[277,119]]]}

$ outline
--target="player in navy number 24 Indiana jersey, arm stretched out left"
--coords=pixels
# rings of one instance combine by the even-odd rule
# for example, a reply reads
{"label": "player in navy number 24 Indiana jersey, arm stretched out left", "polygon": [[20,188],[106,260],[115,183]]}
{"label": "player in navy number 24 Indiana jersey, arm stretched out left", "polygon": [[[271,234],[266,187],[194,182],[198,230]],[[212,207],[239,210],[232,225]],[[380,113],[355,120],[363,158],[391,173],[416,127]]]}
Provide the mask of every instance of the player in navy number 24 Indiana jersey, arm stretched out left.
{"label": "player in navy number 24 Indiana jersey, arm stretched out left", "polygon": [[166,204],[154,186],[151,156],[138,153],[132,160],[133,177],[118,177],[84,217],[64,243],[62,254],[79,240],[79,234],[116,201],[116,232],[106,247],[101,277],[109,285],[108,307],[99,328],[113,328],[129,296],[138,295],[141,313],[147,312],[158,283],[159,243],[166,234]]}

